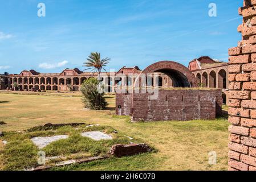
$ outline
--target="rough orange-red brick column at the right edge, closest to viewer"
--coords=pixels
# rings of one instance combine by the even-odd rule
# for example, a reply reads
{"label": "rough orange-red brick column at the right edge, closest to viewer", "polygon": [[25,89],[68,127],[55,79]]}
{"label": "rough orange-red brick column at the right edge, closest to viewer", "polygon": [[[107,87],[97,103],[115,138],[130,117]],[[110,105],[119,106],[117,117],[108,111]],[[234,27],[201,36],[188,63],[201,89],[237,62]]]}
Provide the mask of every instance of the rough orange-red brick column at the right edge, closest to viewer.
{"label": "rough orange-red brick column at the right edge, closest to viewer", "polygon": [[229,170],[256,171],[256,0],[239,14],[242,41],[229,49]]}

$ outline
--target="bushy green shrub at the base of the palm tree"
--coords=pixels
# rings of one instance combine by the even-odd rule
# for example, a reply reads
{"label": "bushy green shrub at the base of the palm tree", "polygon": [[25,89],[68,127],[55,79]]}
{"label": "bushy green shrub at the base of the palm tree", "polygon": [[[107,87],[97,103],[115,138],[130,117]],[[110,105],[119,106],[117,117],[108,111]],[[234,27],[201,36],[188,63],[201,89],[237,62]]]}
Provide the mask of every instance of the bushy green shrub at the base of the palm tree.
{"label": "bushy green shrub at the base of the palm tree", "polygon": [[84,81],[80,90],[83,94],[83,103],[84,107],[91,110],[102,110],[108,105],[105,101],[104,92],[99,93],[98,89],[98,81],[95,78],[89,78]]}

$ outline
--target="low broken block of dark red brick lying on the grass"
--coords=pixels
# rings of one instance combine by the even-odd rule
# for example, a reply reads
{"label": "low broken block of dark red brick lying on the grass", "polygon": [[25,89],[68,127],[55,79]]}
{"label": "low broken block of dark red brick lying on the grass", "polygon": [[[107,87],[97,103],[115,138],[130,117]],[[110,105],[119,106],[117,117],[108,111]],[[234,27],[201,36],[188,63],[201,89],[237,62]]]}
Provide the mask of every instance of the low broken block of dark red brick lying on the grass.
{"label": "low broken block of dark red brick lying on the grass", "polygon": [[116,144],[111,147],[110,154],[117,157],[136,155],[144,152],[152,151],[147,144]]}

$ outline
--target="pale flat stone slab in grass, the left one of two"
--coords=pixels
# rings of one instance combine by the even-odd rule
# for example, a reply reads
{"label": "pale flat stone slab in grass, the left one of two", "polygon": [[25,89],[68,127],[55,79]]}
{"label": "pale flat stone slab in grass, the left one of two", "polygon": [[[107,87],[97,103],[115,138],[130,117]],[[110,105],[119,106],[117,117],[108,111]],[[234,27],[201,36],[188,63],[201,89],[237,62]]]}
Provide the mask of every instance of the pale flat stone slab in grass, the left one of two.
{"label": "pale flat stone slab in grass, the left one of two", "polygon": [[60,139],[67,139],[67,138],[68,138],[68,135],[57,135],[54,137],[34,137],[34,138],[31,138],[31,140],[38,148],[43,148],[52,142],[56,142]]}

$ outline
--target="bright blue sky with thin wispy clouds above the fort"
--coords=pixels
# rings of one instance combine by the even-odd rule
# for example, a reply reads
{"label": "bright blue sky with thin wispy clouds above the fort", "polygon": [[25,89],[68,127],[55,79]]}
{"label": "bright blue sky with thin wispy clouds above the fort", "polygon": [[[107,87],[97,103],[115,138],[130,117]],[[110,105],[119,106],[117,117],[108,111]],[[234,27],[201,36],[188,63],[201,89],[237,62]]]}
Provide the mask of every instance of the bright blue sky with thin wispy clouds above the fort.
{"label": "bright blue sky with thin wispy clouds above the fort", "polygon": [[[0,0],[0,73],[82,67],[90,52],[107,70],[160,60],[188,65],[200,56],[227,61],[237,46],[242,0]],[[37,16],[38,3],[46,17]],[[209,3],[217,17],[208,15]]]}

